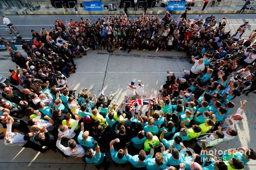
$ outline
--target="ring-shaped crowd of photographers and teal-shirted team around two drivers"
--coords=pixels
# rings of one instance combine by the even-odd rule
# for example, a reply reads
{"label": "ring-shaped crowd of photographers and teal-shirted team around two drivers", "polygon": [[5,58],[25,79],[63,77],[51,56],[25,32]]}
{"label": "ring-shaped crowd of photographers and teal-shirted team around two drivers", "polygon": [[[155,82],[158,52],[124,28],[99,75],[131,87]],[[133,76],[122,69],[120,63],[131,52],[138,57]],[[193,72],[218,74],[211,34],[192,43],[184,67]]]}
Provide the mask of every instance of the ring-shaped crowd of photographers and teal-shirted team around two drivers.
{"label": "ring-shaped crowd of photographers and teal-shirted team around two drivers", "polygon": [[[130,162],[150,170],[244,169],[256,159],[253,149],[230,148],[221,159],[206,150],[237,138],[234,125],[244,118],[247,101],[236,111],[232,100],[255,90],[255,30],[241,39],[248,23],[231,34],[225,31],[227,18],[202,19],[201,12],[193,22],[187,11],[176,20],[168,11],[162,19],[142,15],[131,20],[121,13],[95,23],[57,19],[49,31],[31,30],[32,45],[22,40],[26,57],[15,41],[2,38],[18,66],[10,69],[10,85],[0,84],[0,119],[6,128],[0,139],[9,146],[81,158],[105,170],[110,156],[115,166]],[[194,65],[183,69],[182,77],[167,70],[154,98],[144,95],[143,81],[131,81],[127,100],[118,105],[112,102],[115,93],[96,96],[86,88],[78,93],[68,87],[67,78],[76,70],[74,58],[96,49],[177,50]],[[191,145],[195,153],[186,151]]]}

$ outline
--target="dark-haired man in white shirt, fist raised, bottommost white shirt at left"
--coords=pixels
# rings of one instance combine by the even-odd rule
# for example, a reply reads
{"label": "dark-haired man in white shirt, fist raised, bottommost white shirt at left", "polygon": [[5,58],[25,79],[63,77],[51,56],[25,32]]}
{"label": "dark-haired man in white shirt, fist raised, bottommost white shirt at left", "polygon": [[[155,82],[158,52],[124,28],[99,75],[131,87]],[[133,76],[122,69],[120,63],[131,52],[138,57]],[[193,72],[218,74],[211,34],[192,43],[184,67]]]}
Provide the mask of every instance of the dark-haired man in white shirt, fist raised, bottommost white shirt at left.
{"label": "dark-haired man in white shirt, fist raised, bottommost white shirt at left", "polygon": [[76,141],[74,139],[68,140],[68,147],[63,146],[60,144],[61,139],[63,136],[61,134],[58,134],[58,140],[56,142],[56,146],[67,156],[82,158],[85,155],[85,151],[83,147],[80,144],[76,144]]}

